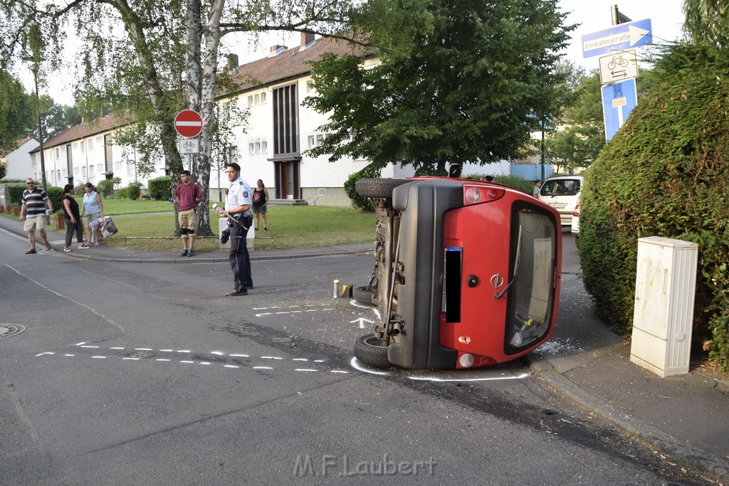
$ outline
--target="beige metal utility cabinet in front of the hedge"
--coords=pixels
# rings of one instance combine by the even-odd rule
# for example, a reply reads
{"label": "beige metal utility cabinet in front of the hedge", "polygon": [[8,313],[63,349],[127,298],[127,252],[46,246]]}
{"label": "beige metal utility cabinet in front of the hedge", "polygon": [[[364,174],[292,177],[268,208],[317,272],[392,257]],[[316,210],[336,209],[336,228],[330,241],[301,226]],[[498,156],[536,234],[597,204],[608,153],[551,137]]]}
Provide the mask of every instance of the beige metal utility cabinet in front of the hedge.
{"label": "beige metal utility cabinet in front of the hedge", "polygon": [[631,361],[660,377],[688,372],[698,244],[638,240]]}

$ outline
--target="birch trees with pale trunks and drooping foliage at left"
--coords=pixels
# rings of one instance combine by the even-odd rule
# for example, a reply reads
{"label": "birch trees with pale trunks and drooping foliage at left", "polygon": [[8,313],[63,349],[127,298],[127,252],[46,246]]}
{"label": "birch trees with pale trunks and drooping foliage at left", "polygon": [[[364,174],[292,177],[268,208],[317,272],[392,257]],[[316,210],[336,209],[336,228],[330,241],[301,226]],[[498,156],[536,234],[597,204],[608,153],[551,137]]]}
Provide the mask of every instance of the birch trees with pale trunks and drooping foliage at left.
{"label": "birch trees with pale trunks and drooping foliage at left", "polygon": [[[58,67],[64,34],[74,26],[85,46],[76,93],[82,108],[126,111],[132,131],[119,140],[136,144],[142,164],[163,157],[172,187],[183,169],[174,114],[184,108],[202,114],[201,153],[193,157],[192,173],[207,197],[213,146],[224,141],[220,128],[227,121],[215,108],[222,37],[273,30],[342,36],[338,33],[357,15],[353,4],[359,2],[73,0],[41,6],[38,0],[7,0],[0,3],[0,31],[12,34],[0,39],[0,63],[31,59],[43,82]],[[139,169],[144,173],[149,166]],[[198,218],[200,232],[210,234],[207,211]]]}

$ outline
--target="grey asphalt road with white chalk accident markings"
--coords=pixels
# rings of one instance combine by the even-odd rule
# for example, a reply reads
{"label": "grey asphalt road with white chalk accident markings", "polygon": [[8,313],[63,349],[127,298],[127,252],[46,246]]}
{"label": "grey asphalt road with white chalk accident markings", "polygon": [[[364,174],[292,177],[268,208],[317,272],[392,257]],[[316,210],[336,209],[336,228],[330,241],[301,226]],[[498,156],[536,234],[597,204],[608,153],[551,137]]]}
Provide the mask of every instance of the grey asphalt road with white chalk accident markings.
{"label": "grey asphalt road with white chalk accident markings", "polygon": [[25,327],[0,339],[3,485],[671,482],[524,361],[353,366],[375,315],[332,281],[364,283],[372,256],[259,262],[230,298],[227,264],[26,247],[0,231],[0,325]]}

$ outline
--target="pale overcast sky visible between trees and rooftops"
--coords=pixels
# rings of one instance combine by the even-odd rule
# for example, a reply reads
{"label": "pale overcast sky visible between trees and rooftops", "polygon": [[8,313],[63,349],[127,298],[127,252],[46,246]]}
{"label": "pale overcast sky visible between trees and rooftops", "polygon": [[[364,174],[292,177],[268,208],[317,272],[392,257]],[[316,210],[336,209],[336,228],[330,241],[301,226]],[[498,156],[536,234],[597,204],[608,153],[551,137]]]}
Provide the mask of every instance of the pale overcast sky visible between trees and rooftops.
{"label": "pale overcast sky visible between trees and rooftops", "polygon": [[[566,58],[586,70],[598,68],[598,58],[583,58],[581,39],[585,34],[602,31],[611,26],[610,7],[616,0],[560,0],[559,6],[563,12],[569,12],[566,23],[579,23],[580,26],[572,33],[572,42],[566,50]],[[681,28],[684,21],[682,0],[633,0],[618,3],[618,9],[623,15],[632,20],[650,19],[653,42],[674,41],[682,35]],[[261,39],[256,45],[236,43],[235,53],[239,55],[240,62],[246,63],[268,55],[268,48],[273,44],[284,44],[294,47],[300,42],[300,34],[286,36],[273,34],[267,39]],[[73,66],[73,64],[72,64]],[[23,82],[28,93],[33,91],[33,80],[27,68],[24,69]],[[56,103],[71,105],[74,100],[71,96],[72,87],[69,82],[72,76],[52,77],[49,87],[41,88],[41,93],[48,93]]]}

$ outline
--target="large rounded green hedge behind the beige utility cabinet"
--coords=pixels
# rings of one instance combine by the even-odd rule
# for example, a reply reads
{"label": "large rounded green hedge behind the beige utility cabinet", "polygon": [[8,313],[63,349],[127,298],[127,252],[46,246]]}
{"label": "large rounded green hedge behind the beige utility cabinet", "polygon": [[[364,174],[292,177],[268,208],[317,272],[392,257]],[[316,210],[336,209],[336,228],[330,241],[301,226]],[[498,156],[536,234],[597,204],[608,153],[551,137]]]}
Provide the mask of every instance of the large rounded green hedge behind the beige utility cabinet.
{"label": "large rounded green hedge behind the beige utility cabinet", "polygon": [[580,258],[604,320],[631,330],[638,238],[699,244],[694,345],[729,370],[729,58],[674,47],[585,173]]}

